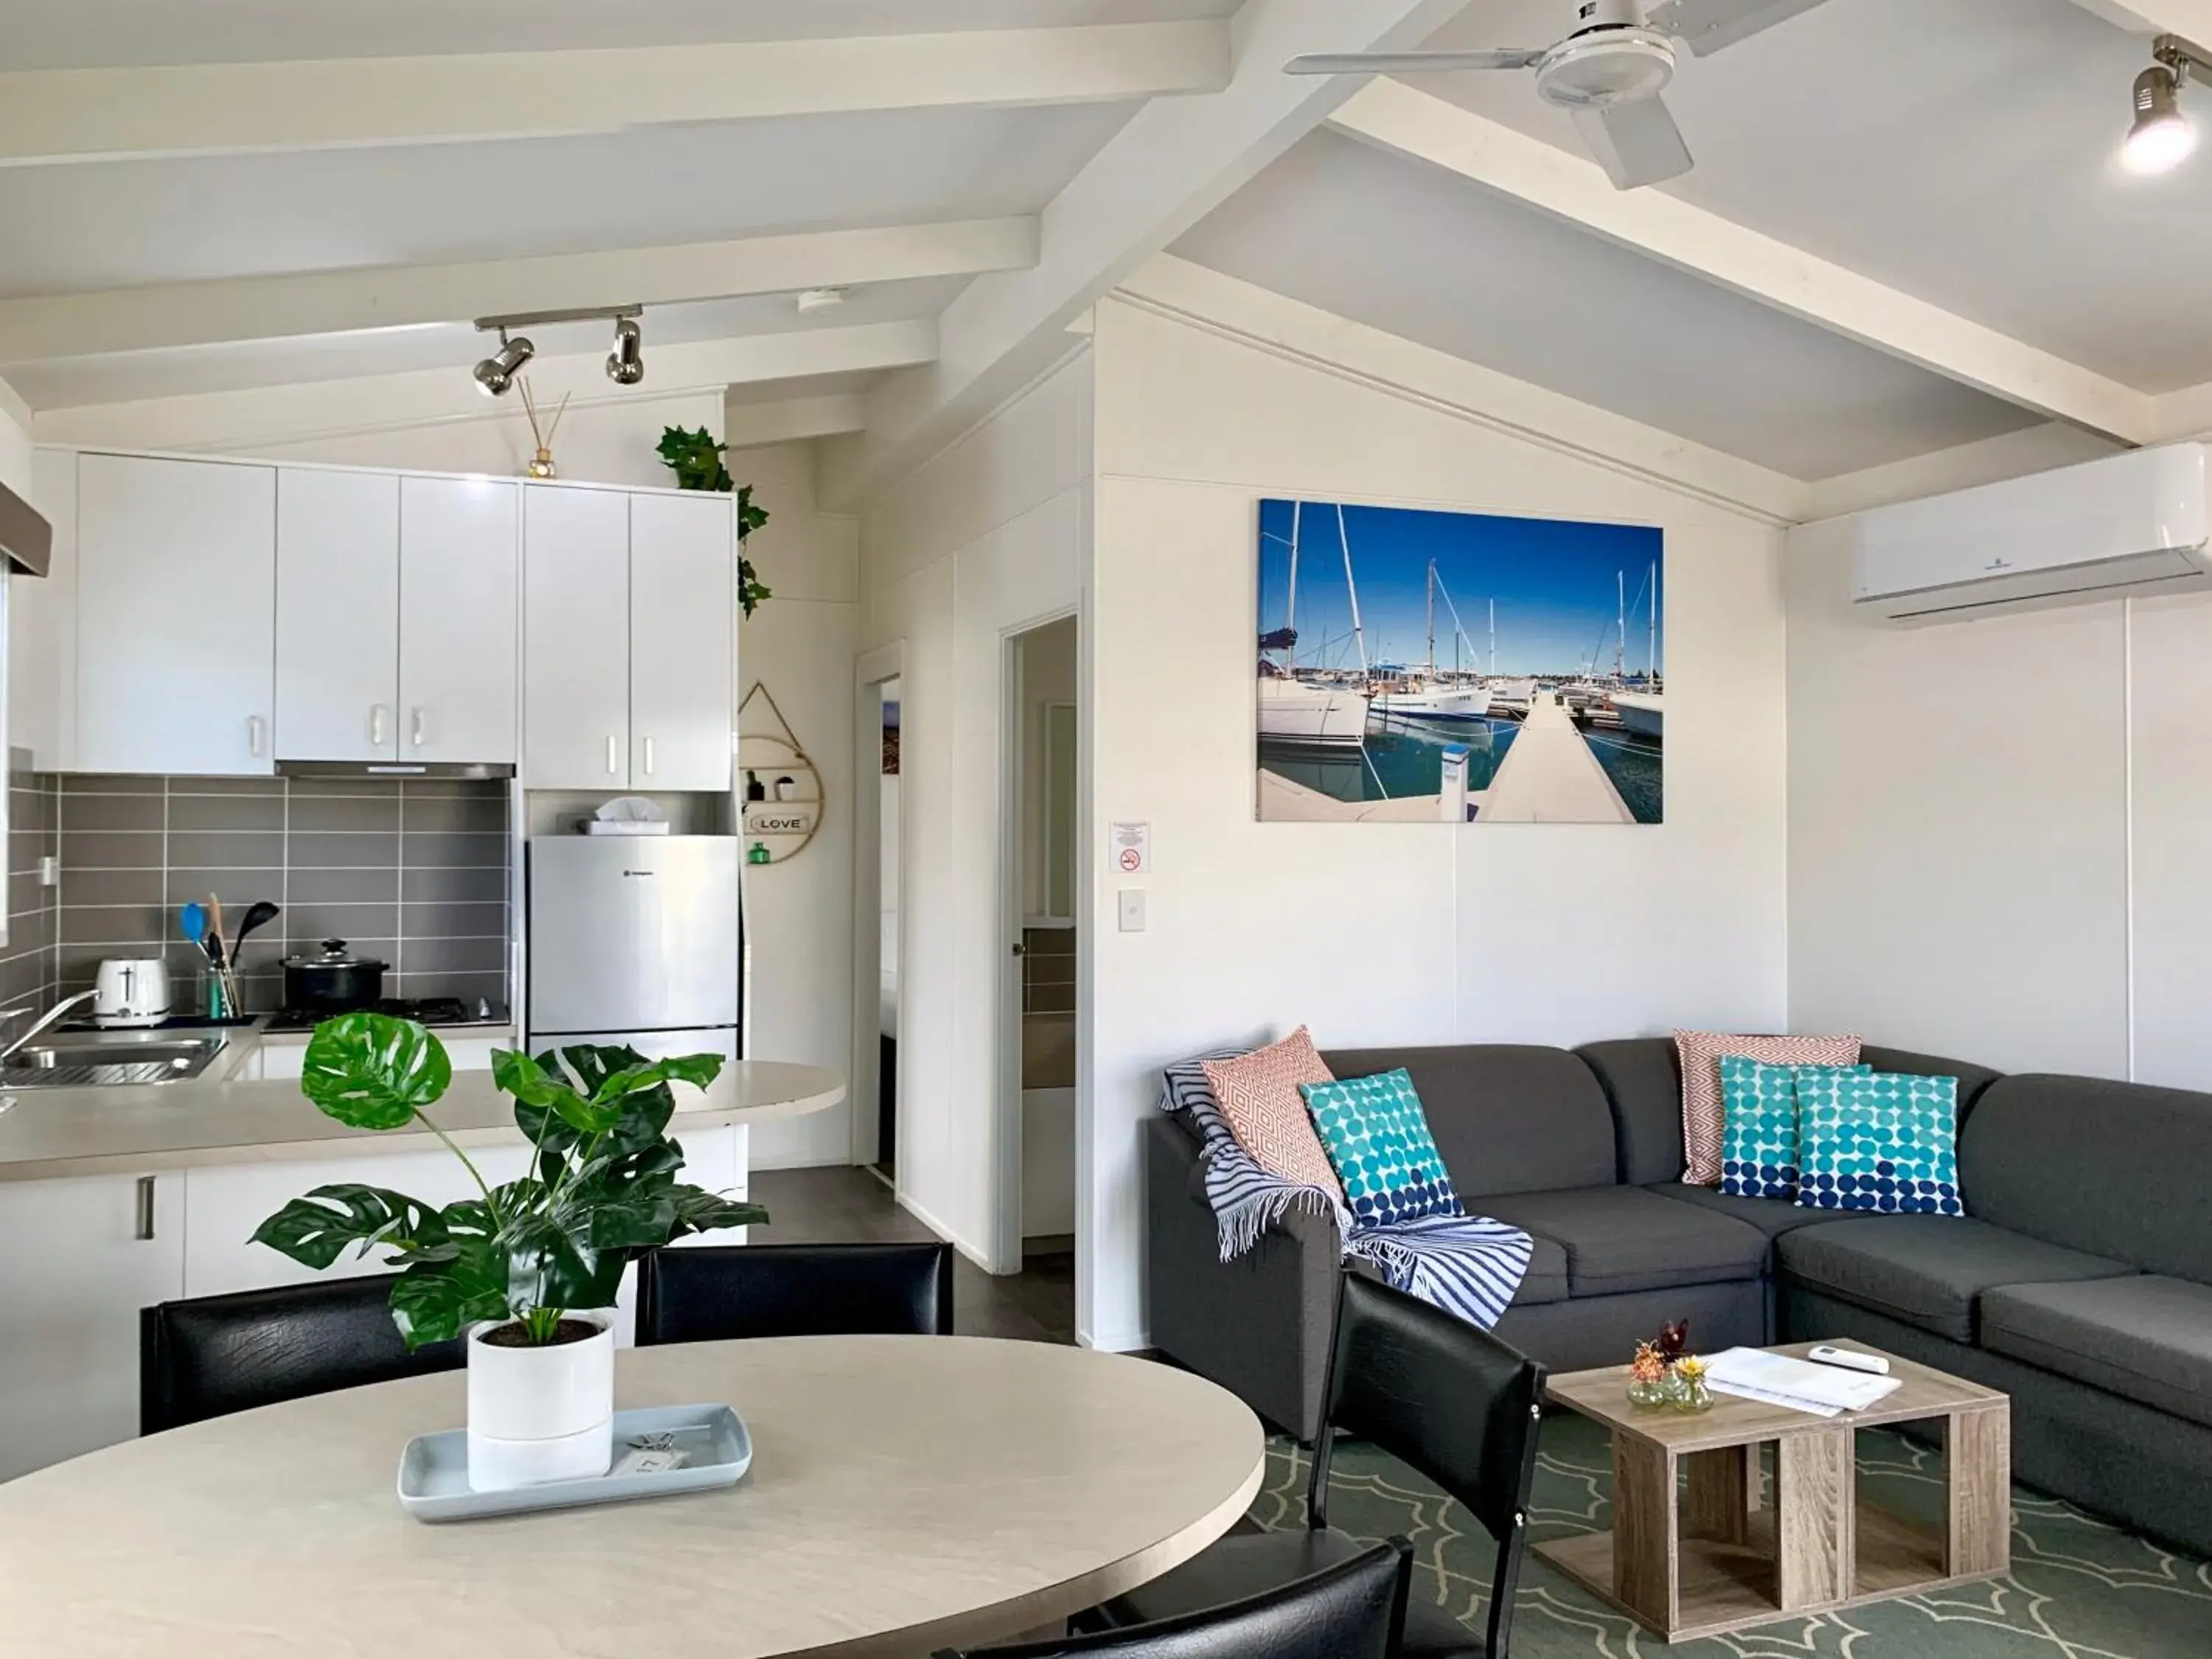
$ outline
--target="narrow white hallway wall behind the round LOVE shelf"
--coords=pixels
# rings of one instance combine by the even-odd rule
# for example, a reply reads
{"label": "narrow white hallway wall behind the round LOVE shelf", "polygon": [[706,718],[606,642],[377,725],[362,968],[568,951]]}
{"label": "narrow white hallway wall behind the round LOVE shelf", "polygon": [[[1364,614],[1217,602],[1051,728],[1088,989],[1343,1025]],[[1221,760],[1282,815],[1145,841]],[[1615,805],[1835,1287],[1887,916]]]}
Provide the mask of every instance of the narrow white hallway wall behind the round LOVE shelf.
{"label": "narrow white hallway wall behind the round LOVE shelf", "polygon": [[[721,422],[708,422],[717,431]],[[781,865],[745,867],[752,956],[745,1053],[852,1071],[852,659],[860,615],[860,524],[814,509],[812,445],[728,456],[768,524],[745,544],[772,597],[739,626],[739,697],[761,684],[823,781],[814,841]],[[852,1104],[757,1124],[752,1168],[852,1161]]]}

